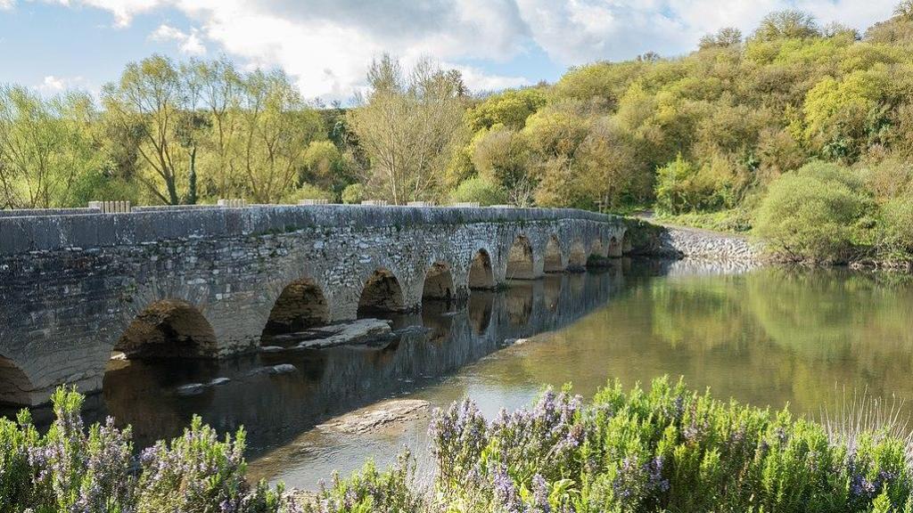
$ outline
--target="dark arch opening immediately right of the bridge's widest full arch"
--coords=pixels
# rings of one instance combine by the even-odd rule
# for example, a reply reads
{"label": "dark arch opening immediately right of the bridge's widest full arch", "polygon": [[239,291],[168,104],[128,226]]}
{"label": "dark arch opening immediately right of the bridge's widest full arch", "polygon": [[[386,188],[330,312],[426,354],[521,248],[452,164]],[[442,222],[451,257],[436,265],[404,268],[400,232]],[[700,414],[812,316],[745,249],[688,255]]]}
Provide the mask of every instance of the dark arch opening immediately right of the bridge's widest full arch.
{"label": "dark arch opening immediately right of the bridge's widest full arch", "polygon": [[308,330],[330,322],[330,310],[323,290],[313,280],[299,279],[282,289],[263,330],[264,335],[279,335]]}

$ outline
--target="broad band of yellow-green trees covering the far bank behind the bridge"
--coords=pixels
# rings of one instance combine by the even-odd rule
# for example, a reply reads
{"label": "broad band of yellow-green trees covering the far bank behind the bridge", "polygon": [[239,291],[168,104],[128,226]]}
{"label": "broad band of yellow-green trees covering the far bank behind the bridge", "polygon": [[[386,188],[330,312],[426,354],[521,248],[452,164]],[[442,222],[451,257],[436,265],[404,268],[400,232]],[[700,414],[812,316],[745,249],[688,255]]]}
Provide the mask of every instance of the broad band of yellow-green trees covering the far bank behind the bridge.
{"label": "broad band of yellow-green trees covering the far bank behind the bridge", "polygon": [[[490,95],[456,70],[383,56],[349,109],[304,101],[281,72],[155,56],[97,102],[0,89],[0,205],[654,206],[690,224],[757,225],[794,259],[910,260],[911,34],[907,1],[865,34],[786,10],[749,35],[721,28],[684,57],[595,62]],[[838,200],[826,180],[794,176],[811,162],[858,182],[840,194],[864,212],[780,211],[795,218],[771,223],[772,209]],[[855,225],[842,233],[806,229],[846,215]]]}

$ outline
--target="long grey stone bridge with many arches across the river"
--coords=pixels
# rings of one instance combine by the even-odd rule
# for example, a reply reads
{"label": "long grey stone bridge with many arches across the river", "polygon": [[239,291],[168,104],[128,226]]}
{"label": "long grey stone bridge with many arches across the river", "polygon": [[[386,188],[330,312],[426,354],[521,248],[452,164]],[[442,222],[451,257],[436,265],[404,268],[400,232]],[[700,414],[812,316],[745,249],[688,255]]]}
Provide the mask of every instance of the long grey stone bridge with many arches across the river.
{"label": "long grey stone bridge with many arches across the river", "polygon": [[114,351],[222,358],[269,334],[582,269],[620,257],[624,231],[568,209],[0,212],[0,402],[99,390]]}

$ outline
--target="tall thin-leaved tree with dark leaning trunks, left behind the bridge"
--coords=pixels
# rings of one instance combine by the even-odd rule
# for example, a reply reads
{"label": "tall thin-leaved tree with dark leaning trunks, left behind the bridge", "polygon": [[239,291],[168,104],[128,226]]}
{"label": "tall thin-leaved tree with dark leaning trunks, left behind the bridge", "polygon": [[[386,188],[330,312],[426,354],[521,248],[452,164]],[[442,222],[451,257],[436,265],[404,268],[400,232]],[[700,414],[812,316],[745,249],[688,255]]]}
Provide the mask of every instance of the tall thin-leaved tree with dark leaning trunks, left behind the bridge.
{"label": "tall thin-leaved tree with dark leaning trunks, left behind the bridge", "polygon": [[181,154],[186,145],[179,137],[179,127],[191,97],[186,86],[171,59],[152,56],[128,64],[120,81],[108,84],[102,92],[108,122],[122,133],[138,132],[142,163],[135,178],[165,204],[180,204],[179,189],[194,179],[190,170],[181,173],[187,159]]}

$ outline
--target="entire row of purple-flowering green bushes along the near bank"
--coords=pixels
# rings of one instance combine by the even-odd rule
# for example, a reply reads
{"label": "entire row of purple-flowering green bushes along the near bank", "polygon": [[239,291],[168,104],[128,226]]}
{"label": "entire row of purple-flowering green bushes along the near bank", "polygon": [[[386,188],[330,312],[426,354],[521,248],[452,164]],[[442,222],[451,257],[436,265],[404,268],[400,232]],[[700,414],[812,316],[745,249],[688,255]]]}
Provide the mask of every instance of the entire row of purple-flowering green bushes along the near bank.
{"label": "entire row of purple-flowering green bushes along the near bank", "polygon": [[660,511],[913,513],[911,447],[890,429],[829,433],[682,382],[590,404],[546,390],[491,422],[465,400],[430,426],[433,493],[404,454],[369,463],[299,506],[245,480],[244,431],[219,440],[194,418],[184,436],[131,457],[130,429],[85,429],[82,397],[58,390],[44,436],[24,412],[0,420],[0,511],[35,513],[590,513]]}

